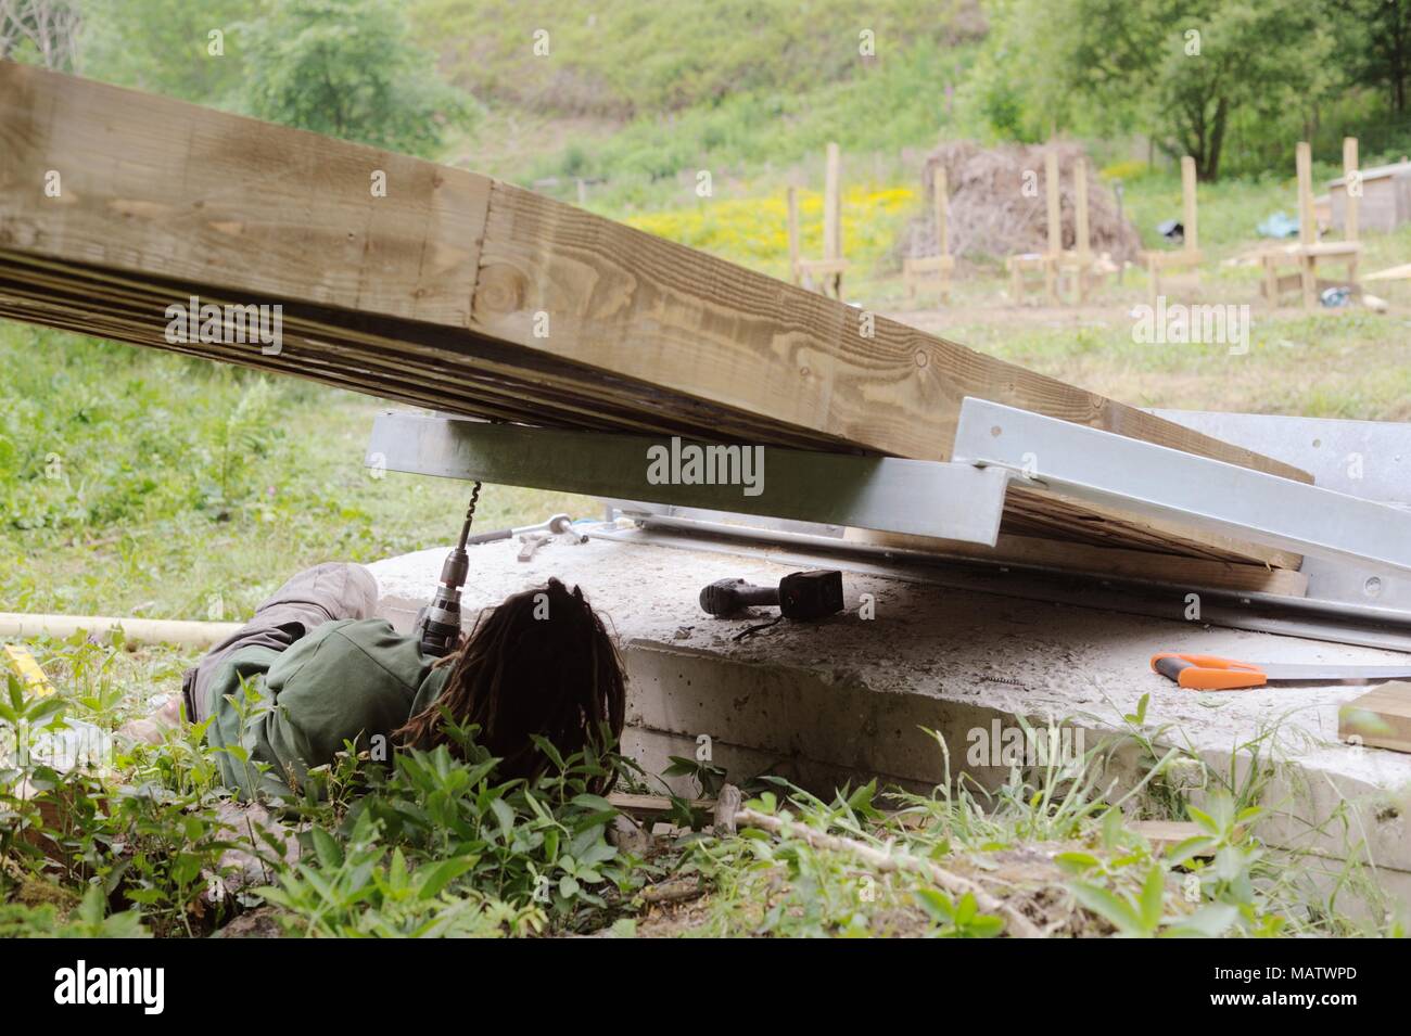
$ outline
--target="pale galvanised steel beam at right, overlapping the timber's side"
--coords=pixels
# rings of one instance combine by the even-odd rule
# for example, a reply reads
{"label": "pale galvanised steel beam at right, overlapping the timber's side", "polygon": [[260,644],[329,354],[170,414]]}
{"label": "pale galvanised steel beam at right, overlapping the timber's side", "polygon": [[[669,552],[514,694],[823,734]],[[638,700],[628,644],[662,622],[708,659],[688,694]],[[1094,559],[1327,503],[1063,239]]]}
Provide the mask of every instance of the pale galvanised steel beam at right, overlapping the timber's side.
{"label": "pale galvanised steel beam at right, overlapping the timber's side", "polygon": [[1411,572],[1411,513],[989,400],[965,399],[952,461],[1237,540]]}

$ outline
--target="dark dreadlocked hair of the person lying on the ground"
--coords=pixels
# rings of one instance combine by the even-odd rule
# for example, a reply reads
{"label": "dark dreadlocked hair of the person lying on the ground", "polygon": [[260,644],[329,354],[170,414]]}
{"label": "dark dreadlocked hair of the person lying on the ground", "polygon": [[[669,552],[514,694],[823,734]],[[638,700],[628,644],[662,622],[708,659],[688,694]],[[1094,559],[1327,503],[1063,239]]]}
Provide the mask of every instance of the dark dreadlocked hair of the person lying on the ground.
{"label": "dark dreadlocked hair of the person lying on the ground", "polygon": [[[402,744],[461,746],[444,730],[444,713],[457,726],[477,724],[477,743],[499,757],[502,777],[533,778],[549,760],[532,734],[569,756],[614,743],[622,734],[622,661],[602,619],[574,586],[557,579],[514,593],[485,609],[464,646],[442,660],[452,667],[430,708],[395,732]],[[598,781],[607,791],[615,774]]]}

